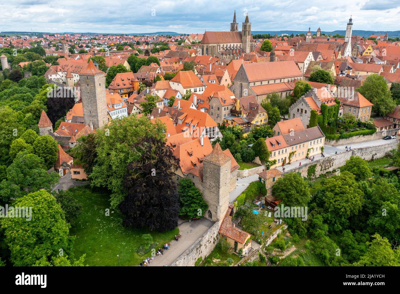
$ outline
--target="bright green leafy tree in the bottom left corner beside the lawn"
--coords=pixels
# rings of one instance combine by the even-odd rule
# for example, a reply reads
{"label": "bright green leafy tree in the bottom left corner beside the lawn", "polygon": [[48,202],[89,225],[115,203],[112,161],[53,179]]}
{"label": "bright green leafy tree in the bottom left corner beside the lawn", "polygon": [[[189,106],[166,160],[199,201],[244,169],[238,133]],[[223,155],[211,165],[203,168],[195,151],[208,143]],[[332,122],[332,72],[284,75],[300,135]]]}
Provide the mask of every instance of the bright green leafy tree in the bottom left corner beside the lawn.
{"label": "bright green leafy tree in the bottom left corner beside the lawn", "polygon": [[2,218],[10,261],[14,266],[33,266],[38,260],[50,260],[60,253],[72,254],[72,240],[64,212],[46,191],[30,193],[17,199],[14,206],[32,208],[32,220]]}

